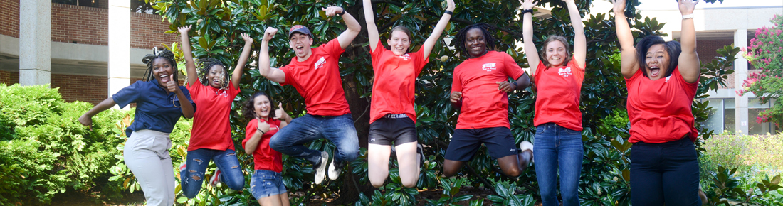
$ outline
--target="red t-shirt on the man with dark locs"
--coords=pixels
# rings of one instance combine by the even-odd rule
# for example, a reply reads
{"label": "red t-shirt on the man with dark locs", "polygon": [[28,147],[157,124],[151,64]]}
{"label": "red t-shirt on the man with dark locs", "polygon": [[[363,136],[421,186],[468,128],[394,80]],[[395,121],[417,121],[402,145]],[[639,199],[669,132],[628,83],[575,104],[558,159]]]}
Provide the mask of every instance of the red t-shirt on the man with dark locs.
{"label": "red t-shirt on the man with dark locs", "polygon": [[475,59],[467,59],[454,68],[451,91],[462,92],[460,118],[456,129],[480,129],[505,126],[508,123],[508,94],[500,91],[496,82],[514,80],[525,70],[511,55],[489,51]]}

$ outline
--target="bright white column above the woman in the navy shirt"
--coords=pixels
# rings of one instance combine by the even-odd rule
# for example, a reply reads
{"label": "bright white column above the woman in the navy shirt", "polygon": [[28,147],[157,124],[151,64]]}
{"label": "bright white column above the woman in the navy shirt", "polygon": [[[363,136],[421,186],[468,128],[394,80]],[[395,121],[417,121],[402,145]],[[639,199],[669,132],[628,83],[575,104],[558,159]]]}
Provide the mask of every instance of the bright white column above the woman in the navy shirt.
{"label": "bright white column above the woman in the navy shirt", "polygon": [[131,81],[130,7],[128,0],[109,0],[109,97]]}

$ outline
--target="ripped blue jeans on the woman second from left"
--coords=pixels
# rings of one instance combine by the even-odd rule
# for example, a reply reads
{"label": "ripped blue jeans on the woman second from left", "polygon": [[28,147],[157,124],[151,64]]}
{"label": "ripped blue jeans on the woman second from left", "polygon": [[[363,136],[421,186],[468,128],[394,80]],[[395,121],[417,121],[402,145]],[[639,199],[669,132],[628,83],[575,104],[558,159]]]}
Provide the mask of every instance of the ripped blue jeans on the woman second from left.
{"label": "ripped blue jeans on the woman second from left", "polygon": [[207,171],[209,161],[215,162],[222,175],[220,181],[229,186],[231,190],[244,188],[244,175],[239,160],[236,159],[236,151],[231,149],[218,151],[211,149],[197,149],[188,151],[185,171],[179,174],[182,182],[182,194],[185,197],[196,197],[201,185],[204,183],[204,172]]}

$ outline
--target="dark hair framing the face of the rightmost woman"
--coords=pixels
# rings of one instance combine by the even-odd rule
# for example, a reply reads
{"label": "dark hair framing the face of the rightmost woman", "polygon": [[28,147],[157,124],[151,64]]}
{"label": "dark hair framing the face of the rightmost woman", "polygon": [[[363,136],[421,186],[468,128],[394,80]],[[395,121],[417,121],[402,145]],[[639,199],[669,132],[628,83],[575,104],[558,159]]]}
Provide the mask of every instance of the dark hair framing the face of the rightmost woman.
{"label": "dark hair framing the face of the rightmost woman", "polygon": [[639,62],[639,69],[642,69],[642,74],[647,76],[647,51],[654,45],[663,44],[663,48],[669,55],[669,67],[664,74],[664,77],[672,75],[674,68],[679,65],[680,53],[682,53],[682,47],[680,42],[677,41],[664,41],[659,36],[647,36],[641,38],[637,43],[637,62]]}

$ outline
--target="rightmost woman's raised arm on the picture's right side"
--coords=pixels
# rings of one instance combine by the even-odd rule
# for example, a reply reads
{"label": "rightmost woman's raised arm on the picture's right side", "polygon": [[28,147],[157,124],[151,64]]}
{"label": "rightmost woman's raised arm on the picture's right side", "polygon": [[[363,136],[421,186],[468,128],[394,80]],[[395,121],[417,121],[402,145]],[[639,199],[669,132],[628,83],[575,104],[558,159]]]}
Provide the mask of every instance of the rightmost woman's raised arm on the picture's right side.
{"label": "rightmost woman's raised arm on the picture's right side", "polygon": [[682,46],[682,53],[680,53],[680,59],[677,63],[680,65],[680,74],[687,83],[695,83],[698,81],[698,76],[701,75],[701,62],[698,61],[698,54],[696,54],[696,29],[694,28],[693,10],[698,4],[698,0],[680,0],[677,2],[680,5],[680,13],[683,15],[683,28],[682,36],[680,37],[680,44]]}

